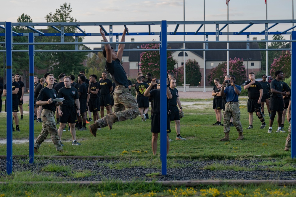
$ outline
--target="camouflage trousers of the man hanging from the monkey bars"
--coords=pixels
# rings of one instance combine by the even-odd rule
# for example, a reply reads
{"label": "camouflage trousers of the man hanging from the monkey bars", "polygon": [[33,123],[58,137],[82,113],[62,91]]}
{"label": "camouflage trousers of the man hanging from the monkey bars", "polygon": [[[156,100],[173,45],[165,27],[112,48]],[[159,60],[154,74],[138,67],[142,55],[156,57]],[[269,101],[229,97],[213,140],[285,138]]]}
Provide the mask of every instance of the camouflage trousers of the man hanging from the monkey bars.
{"label": "camouflage trousers of the man hanging from the monkey bars", "polygon": [[[139,115],[139,107],[137,100],[128,88],[116,87],[113,92],[114,105],[113,112],[111,113],[115,121],[125,121],[131,118],[137,118]],[[126,110],[123,110],[126,108]],[[108,126],[106,116],[96,121],[96,124],[102,128]]]}

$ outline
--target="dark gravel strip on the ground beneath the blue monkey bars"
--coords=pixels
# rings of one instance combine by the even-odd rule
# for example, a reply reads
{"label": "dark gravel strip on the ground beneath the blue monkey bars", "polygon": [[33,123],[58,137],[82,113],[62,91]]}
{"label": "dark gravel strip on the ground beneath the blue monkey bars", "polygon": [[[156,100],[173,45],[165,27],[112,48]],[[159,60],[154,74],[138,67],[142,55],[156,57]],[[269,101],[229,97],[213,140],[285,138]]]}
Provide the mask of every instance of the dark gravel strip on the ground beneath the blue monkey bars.
{"label": "dark gravel strip on the ground beneath the blue monkey bars", "polygon": [[[57,176],[63,181],[104,181],[104,180],[296,180],[296,171],[272,171],[264,170],[271,166],[259,165],[264,161],[276,161],[252,159],[252,160],[206,160],[206,161],[187,161],[178,160],[185,167],[168,168],[167,175],[161,175],[161,169],[147,167],[131,167],[123,169],[110,169],[107,165],[114,165],[122,160],[85,160],[85,159],[35,159],[33,164],[29,164],[27,159],[14,159],[13,171],[32,171],[38,175]],[[125,161],[131,162],[131,161]],[[44,172],[43,167],[55,164],[67,166],[71,172]],[[213,164],[223,166],[247,167],[250,171],[234,170],[203,170],[203,167]],[[295,164],[291,165],[296,167]],[[262,170],[261,170],[262,169]],[[83,178],[73,178],[73,172],[91,172],[91,175]],[[159,173],[156,177],[147,174]],[[6,159],[0,159],[0,176],[6,175]]]}

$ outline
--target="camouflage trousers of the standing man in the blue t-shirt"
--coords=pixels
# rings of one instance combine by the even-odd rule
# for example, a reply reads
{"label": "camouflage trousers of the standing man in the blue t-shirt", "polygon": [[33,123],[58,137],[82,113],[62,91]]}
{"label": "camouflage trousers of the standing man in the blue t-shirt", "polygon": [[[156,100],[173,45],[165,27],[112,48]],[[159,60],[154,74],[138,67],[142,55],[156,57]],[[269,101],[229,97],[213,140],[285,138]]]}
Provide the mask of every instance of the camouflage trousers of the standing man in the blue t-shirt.
{"label": "camouflage trousers of the standing man in the blue t-shirt", "polygon": [[239,110],[239,104],[236,103],[230,103],[227,102],[225,104],[225,110],[223,112],[223,124],[224,124],[224,133],[230,131],[230,119],[231,116],[233,118],[233,124],[235,128],[237,129],[237,132],[242,132],[242,123],[240,122],[240,110]]}

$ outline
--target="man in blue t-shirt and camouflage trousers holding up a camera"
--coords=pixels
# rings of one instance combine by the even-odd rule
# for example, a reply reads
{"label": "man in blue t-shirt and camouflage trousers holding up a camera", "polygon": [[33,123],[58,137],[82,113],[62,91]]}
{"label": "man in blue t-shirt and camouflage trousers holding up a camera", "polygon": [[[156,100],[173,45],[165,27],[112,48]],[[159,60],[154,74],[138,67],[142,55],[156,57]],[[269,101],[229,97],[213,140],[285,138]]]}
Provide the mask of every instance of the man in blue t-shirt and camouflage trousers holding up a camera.
{"label": "man in blue t-shirt and camouflage trousers holding up a camera", "polygon": [[[234,75],[230,76],[231,86],[226,87],[226,81],[223,82],[221,87],[221,96],[226,95],[226,105],[223,112],[224,121],[224,133],[225,137],[220,139],[220,141],[229,141],[229,131],[230,131],[230,118],[233,117],[233,124],[239,133],[237,140],[244,139],[242,131],[242,123],[240,122],[240,110],[239,110],[239,95],[242,88],[235,84],[236,79]],[[225,89],[224,89],[225,88]]]}

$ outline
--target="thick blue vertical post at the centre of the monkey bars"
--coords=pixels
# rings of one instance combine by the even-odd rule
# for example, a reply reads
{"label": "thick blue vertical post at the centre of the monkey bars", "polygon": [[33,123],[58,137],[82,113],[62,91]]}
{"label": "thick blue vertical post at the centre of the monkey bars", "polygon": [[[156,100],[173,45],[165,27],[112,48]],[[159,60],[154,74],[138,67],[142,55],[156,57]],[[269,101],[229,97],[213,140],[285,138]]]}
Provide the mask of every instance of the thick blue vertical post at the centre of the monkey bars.
{"label": "thick blue vertical post at the centre of the monkey bars", "polygon": [[161,174],[167,173],[167,21],[161,21],[160,34],[160,157]]}

